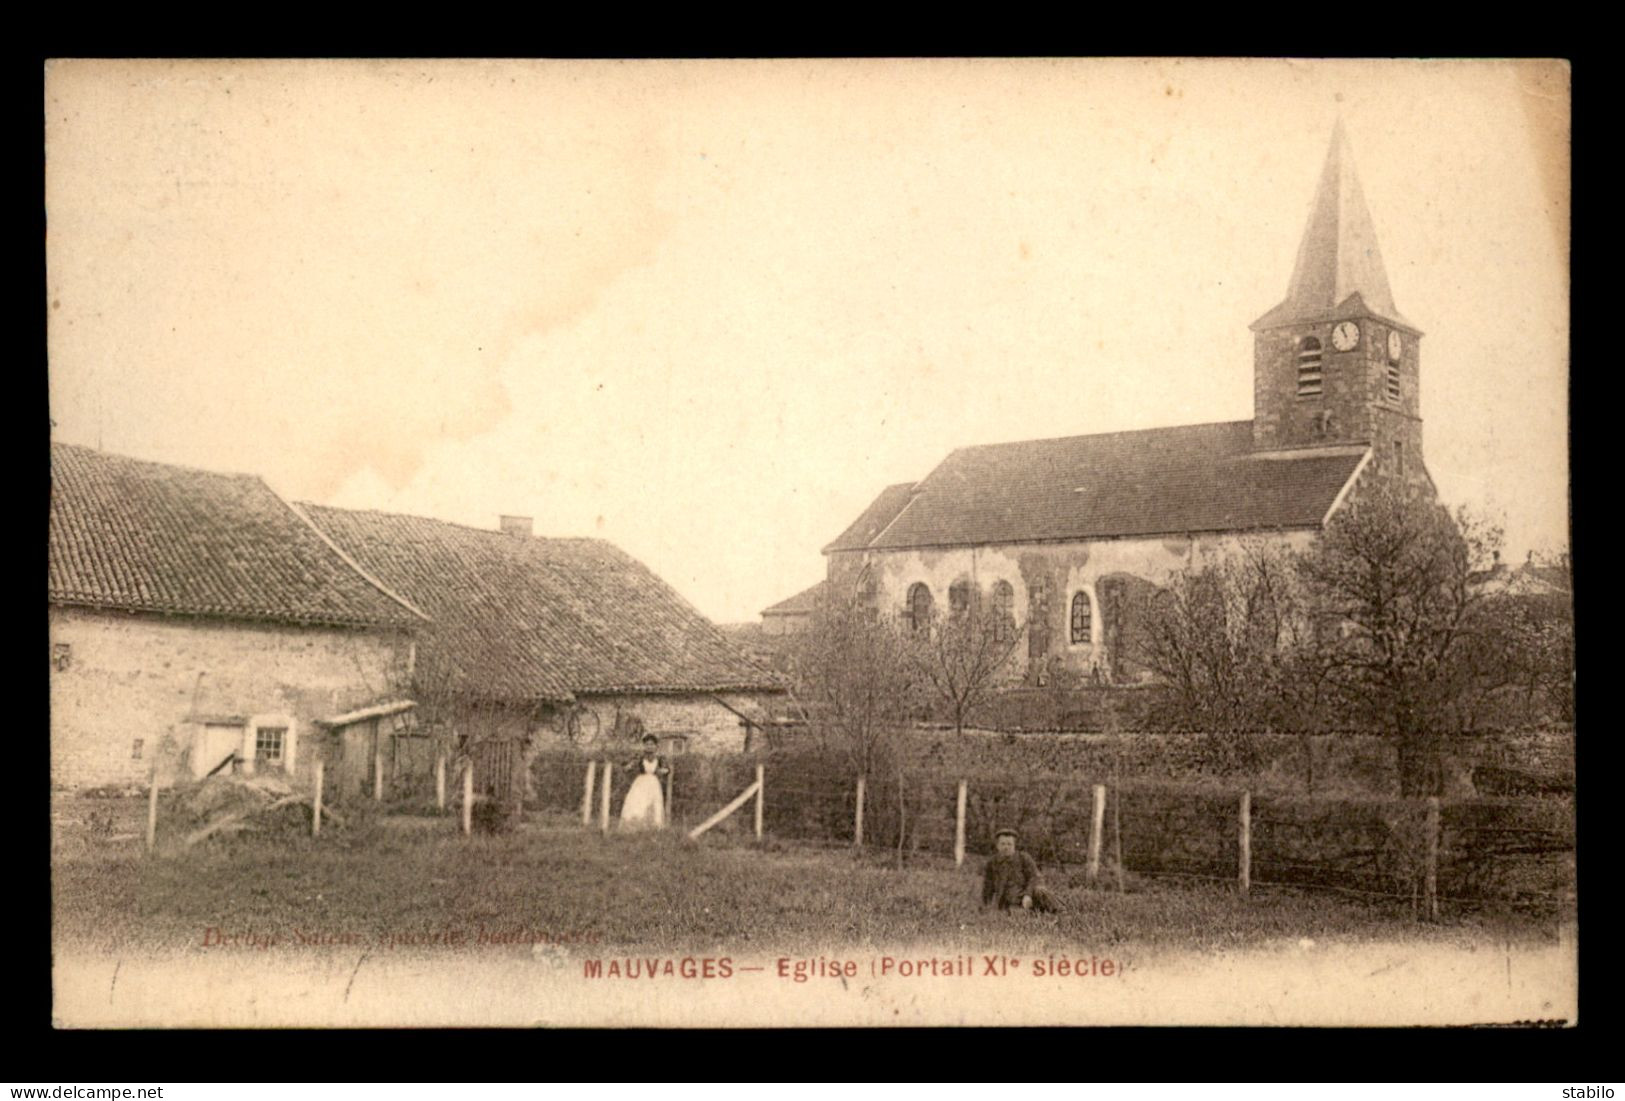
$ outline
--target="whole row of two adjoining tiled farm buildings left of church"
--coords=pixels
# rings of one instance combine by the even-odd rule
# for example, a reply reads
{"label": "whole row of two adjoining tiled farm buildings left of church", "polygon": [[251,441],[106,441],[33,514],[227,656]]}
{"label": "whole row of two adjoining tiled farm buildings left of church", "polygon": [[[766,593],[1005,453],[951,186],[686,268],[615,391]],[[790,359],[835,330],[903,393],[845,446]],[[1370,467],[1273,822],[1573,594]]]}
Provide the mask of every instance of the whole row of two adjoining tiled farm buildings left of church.
{"label": "whole row of two adjoining tiled farm buildings left of church", "polygon": [[[335,797],[460,742],[739,750],[778,679],[601,539],[292,505],[52,445],[52,779],[304,775]],[[484,773],[483,773],[484,775]]]}

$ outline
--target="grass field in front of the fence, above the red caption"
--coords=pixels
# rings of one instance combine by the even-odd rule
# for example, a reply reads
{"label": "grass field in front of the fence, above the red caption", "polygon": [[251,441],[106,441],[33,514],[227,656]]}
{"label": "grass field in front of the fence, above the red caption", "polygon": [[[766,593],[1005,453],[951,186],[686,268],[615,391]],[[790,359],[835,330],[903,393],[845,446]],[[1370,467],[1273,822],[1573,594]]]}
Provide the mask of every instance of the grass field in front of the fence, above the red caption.
{"label": "grass field in front of the fence, above the red caption", "polygon": [[[104,801],[110,802],[110,801]],[[463,838],[448,818],[221,838],[143,856],[125,825],[91,836],[83,815],[55,815],[52,892],[62,945],[102,950],[202,948],[208,929],[325,943],[481,948],[514,934],[595,952],[793,952],[928,943],[939,950],[1029,952],[1176,947],[1227,950],[1272,942],[1482,942],[1555,939],[1555,924],[1456,916],[1438,926],[1409,908],[1332,895],[1129,879],[1089,890],[1050,874],[1064,914],[980,906],[980,861],[912,862],[889,854],[676,835],[600,836],[566,818],[507,836]],[[104,812],[106,814],[106,812]],[[124,823],[124,825],[120,825]],[[479,930],[486,930],[484,945]],[[460,930],[450,942],[450,930]],[[523,930],[523,932],[520,932]],[[574,952],[574,948],[570,948]]]}

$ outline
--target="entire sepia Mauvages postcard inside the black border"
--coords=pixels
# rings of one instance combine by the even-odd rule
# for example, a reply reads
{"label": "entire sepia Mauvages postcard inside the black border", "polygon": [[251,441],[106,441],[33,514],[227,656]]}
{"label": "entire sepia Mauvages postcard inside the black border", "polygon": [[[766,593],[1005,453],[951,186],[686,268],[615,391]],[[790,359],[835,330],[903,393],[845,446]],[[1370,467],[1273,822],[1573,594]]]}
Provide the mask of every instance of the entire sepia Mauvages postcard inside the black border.
{"label": "entire sepia Mauvages postcard inside the black border", "polygon": [[49,63],[54,1020],[1575,1023],[1568,76]]}

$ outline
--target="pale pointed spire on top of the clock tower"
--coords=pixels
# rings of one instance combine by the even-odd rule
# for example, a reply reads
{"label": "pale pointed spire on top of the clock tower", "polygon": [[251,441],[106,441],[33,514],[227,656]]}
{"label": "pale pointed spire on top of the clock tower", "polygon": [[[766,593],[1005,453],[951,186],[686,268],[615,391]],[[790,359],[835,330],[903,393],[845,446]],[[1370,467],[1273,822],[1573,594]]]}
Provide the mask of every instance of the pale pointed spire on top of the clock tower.
{"label": "pale pointed spire on top of the clock tower", "polygon": [[[1352,300],[1355,296],[1357,302]],[[1360,315],[1410,328],[1388,289],[1376,227],[1365,206],[1354,154],[1339,119],[1331,132],[1331,148],[1326,151],[1303,240],[1298,244],[1298,261],[1292,268],[1287,297],[1253,322],[1253,330]]]}

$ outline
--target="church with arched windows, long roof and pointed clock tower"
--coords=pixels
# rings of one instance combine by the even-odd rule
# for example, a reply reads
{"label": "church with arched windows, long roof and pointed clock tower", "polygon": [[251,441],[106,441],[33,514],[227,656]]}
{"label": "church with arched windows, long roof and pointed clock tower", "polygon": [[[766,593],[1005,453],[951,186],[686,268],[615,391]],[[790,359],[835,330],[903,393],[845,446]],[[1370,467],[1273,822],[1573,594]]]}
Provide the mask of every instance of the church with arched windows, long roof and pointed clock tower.
{"label": "church with arched windows, long roof and pointed clock tower", "polygon": [[1134,684],[1136,591],[1250,539],[1302,549],[1365,486],[1433,494],[1422,333],[1394,307],[1341,122],[1287,296],[1251,330],[1251,421],[959,448],[824,547],[830,589],[910,628],[985,601],[1025,624],[1027,684]]}

